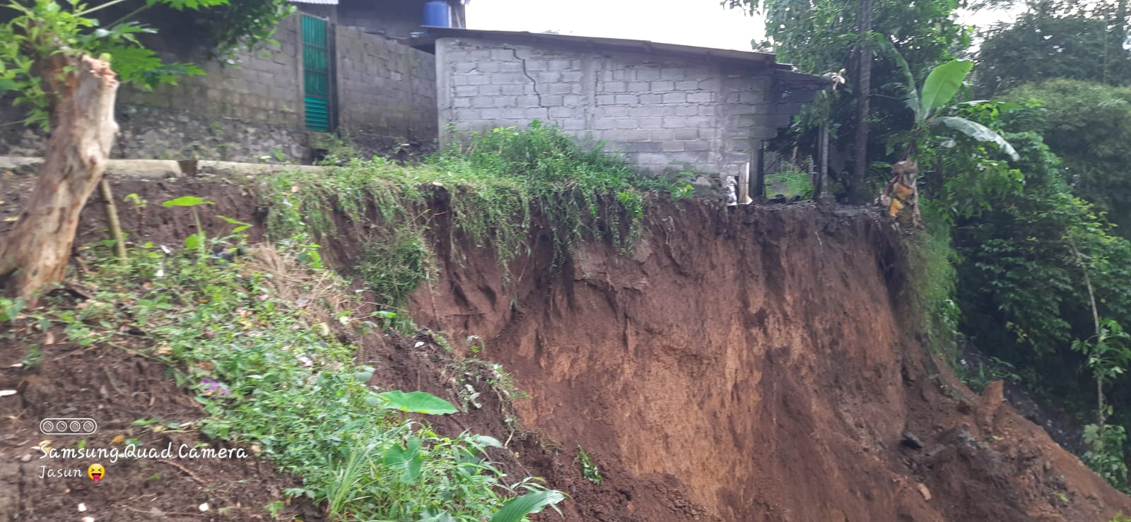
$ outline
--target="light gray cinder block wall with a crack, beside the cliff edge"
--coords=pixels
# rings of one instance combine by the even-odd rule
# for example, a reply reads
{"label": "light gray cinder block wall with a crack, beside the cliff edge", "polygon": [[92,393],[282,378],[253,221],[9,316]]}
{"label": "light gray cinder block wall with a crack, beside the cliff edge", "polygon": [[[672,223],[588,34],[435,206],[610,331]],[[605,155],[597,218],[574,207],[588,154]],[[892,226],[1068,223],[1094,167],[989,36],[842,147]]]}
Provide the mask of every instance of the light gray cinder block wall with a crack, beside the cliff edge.
{"label": "light gray cinder block wall with a crack, beside the cliff edge", "polygon": [[440,38],[441,125],[473,131],[541,120],[604,140],[645,171],[737,175],[800,108],[782,102],[765,68],[555,47]]}

